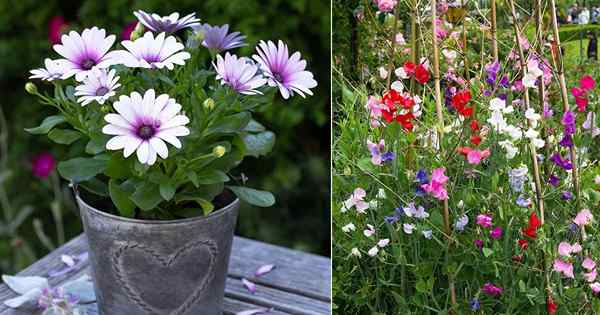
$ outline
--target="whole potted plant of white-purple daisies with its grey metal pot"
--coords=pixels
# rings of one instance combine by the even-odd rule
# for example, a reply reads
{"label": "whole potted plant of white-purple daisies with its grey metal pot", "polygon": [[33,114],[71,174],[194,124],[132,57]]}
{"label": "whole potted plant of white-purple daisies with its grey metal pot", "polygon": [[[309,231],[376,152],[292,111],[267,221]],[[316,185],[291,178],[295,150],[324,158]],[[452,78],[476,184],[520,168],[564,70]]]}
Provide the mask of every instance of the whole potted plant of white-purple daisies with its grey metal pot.
{"label": "whole potted plant of white-purple daisies with its grey metal pot", "polygon": [[31,71],[53,89],[26,85],[56,114],[27,131],[70,146],[58,171],[73,183],[100,314],[220,314],[239,200],[275,202],[232,175],[275,141],[252,114],[317,82],[282,41],[239,57],[248,44],[228,25],[134,15],[116,45],[99,27],[62,36]]}

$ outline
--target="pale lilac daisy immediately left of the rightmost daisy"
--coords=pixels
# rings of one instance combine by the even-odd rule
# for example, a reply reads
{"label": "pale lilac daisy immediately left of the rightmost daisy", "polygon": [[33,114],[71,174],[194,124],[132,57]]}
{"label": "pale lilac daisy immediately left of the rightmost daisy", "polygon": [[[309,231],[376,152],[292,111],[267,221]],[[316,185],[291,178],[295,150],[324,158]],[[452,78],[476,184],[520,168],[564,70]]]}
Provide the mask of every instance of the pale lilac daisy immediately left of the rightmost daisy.
{"label": "pale lilac daisy immediately left of the rightmost daisy", "polygon": [[213,63],[213,66],[217,71],[217,80],[241,94],[262,94],[257,89],[267,83],[258,73],[258,65],[249,58],[238,58],[236,55],[225,53],[225,58],[217,55],[217,63]]}

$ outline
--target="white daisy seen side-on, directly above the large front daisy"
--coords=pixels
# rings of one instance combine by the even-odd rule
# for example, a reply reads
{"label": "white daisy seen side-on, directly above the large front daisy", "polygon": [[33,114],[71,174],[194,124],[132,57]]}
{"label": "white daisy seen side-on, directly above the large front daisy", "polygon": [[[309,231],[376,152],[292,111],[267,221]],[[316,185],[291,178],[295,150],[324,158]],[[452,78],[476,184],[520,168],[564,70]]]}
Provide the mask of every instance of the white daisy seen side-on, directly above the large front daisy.
{"label": "white daisy seen side-on, directly above the large front daisy", "polygon": [[127,50],[116,51],[119,62],[130,68],[167,68],[173,70],[175,64],[184,65],[191,57],[183,50],[183,44],[177,42],[174,36],[165,38],[160,33],[154,38],[152,32],[146,32],[142,38],[135,41],[121,42]]}

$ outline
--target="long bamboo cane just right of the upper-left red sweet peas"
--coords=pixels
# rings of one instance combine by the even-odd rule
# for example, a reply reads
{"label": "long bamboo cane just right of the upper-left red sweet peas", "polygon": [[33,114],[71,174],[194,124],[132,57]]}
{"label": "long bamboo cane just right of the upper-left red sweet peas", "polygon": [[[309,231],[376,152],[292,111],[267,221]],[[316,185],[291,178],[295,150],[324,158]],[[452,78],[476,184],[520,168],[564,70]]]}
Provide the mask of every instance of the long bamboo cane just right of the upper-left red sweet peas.
{"label": "long bamboo cane just right of the upper-left red sweet peas", "polygon": [[[440,87],[440,59],[439,59],[439,47],[437,42],[437,25],[435,23],[437,19],[437,1],[431,1],[431,16],[432,16],[432,38],[433,38],[433,77],[435,84],[435,109],[438,117],[438,143],[440,144],[440,153],[442,156],[444,153],[443,146],[443,134],[444,134],[444,113],[442,111],[442,92]],[[446,240],[448,241],[448,247],[446,248],[446,264],[448,264],[448,250],[450,247],[450,211],[448,210],[448,199],[444,200],[444,230],[446,233]],[[454,275],[448,274],[448,289],[450,291],[450,301],[452,306],[456,305],[456,290],[454,288]]]}

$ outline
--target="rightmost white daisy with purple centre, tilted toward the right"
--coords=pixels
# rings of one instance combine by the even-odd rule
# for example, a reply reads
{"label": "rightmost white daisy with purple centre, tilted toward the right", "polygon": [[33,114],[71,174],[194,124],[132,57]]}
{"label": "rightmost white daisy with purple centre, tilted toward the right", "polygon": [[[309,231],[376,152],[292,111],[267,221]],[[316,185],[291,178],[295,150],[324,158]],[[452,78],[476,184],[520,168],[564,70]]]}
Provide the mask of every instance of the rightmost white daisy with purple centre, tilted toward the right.
{"label": "rightmost white daisy with purple centre, tilted toward the right", "polygon": [[279,88],[284,99],[294,95],[294,92],[305,97],[304,93],[312,95],[310,89],[317,86],[313,74],[304,70],[306,60],[301,60],[300,52],[290,57],[288,47],[282,41],[278,46],[272,41],[260,41],[256,47],[258,55],[253,58],[260,63],[263,75],[267,77],[270,86]]}

